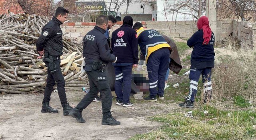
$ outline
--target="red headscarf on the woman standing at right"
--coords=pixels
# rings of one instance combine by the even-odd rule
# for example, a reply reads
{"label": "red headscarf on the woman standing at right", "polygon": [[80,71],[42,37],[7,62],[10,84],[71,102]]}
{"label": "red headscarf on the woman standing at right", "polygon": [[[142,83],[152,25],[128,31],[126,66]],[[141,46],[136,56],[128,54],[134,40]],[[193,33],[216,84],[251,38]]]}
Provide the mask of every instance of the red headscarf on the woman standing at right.
{"label": "red headscarf on the woman standing at right", "polygon": [[209,19],[206,16],[201,16],[201,18],[199,18],[198,22],[197,22],[197,28],[199,30],[203,30],[204,35],[204,44],[209,44],[209,41],[211,39],[212,36],[212,30],[209,26]]}

